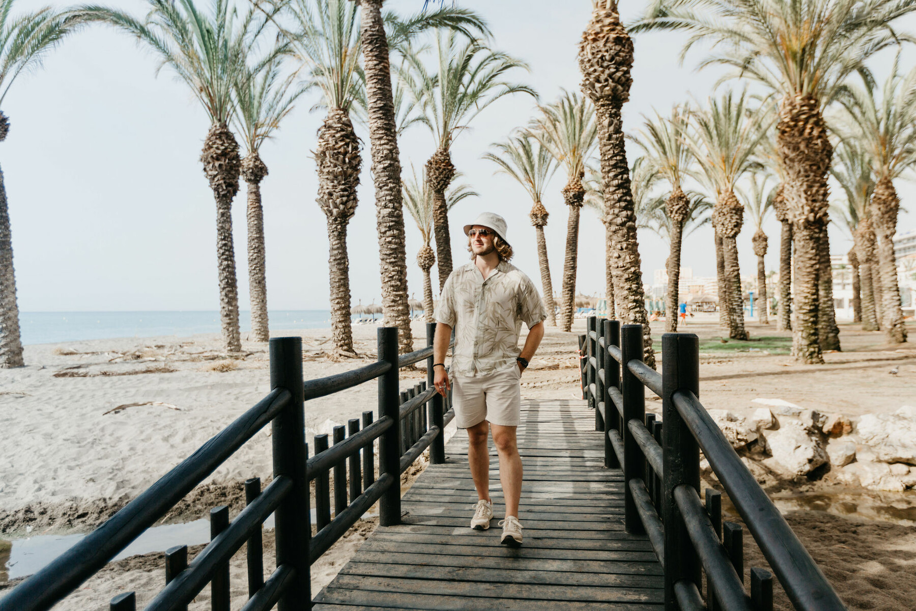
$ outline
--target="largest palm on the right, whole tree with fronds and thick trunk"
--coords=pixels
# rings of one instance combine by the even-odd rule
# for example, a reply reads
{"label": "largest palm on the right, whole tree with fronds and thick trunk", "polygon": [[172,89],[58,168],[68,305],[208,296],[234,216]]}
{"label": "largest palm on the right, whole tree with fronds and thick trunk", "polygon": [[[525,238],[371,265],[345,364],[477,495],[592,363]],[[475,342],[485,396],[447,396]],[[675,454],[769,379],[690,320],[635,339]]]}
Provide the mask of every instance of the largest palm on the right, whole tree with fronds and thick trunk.
{"label": "largest palm on the right, whole tree with fronds and thick trunk", "polygon": [[[909,39],[892,24],[913,10],[913,3],[859,0],[659,0],[633,27],[688,32],[682,57],[697,42],[709,41],[715,50],[702,66],[731,66],[779,96],[777,142],[786,171],[783,196],[793,225],[797,272],[793,344],[804,363],[823,363],[820,276],[833,156],[823,108],[863,61]],[[832,311],[832,299],[827,307]],[[833,328],[825,331],[833,333]]]}

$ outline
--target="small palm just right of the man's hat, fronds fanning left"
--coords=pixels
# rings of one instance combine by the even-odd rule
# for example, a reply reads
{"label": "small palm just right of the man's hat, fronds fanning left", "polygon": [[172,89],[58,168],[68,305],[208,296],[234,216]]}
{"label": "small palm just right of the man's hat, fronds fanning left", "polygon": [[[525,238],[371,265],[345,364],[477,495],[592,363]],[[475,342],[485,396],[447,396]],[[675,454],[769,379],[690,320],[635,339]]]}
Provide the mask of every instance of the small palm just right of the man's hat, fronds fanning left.
{"label": "small palm just right of the man's hat, fronds fanning left", "polygon": [[544,289],[544,308],[553,326],[557,326],[556,304],[553,302],[553,284],[551,267],[547,258],[547,242],[544,239],[544,227],[549,213],[542,202],[544,188],[551,180],[557,166],[551,151],[528,133],[509,136],[506,142],[494,143],[496,152],[486,153],[485,159],[496,163],[497,172],[507,174],[528,192],[531,198],[531,224],[534,225],[538,241],[538,262],[540,263],[540,283]]}

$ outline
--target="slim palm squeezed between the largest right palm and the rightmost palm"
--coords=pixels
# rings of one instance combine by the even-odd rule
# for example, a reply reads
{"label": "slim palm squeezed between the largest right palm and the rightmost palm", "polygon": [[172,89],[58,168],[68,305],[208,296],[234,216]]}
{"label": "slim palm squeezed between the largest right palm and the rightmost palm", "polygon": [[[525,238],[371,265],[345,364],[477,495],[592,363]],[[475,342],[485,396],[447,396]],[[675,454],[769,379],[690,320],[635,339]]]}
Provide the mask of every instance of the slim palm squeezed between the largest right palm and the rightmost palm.
{"label": "slim palm squeezed between the largest right palm and the rightmost palm", "polygon": [[[846,202],[834,204],[834,216],[840,219],[853,238],[853,250],[859,278],[861,300],[861,321],[863,331],[878,331],[879,283],[875,269],[875,233],[868,220],[868,202],[875,191],[871,160],[857,144],[857,140],[846,139],[836,149],[836,159],[831,173],[840,183]],[[851,262],[851,261],[850,261]],[[876,299],[878,298],[878,299]]]}

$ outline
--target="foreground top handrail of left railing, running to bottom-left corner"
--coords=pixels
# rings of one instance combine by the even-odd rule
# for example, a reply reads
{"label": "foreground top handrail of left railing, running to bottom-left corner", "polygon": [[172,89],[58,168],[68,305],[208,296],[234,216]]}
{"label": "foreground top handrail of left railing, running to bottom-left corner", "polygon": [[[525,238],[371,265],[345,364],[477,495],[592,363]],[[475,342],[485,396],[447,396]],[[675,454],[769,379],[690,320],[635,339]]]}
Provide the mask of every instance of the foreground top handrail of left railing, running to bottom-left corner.
{"label": "foreground top handrail of left railing, running to bottom-left corner", "polygon": [[271,390],[267,397],[213,435],[197,452],[160,477],[102,526],[0,598],[0,610],[48,608],[70,594],[212,474],[291,400],[289,390]]}

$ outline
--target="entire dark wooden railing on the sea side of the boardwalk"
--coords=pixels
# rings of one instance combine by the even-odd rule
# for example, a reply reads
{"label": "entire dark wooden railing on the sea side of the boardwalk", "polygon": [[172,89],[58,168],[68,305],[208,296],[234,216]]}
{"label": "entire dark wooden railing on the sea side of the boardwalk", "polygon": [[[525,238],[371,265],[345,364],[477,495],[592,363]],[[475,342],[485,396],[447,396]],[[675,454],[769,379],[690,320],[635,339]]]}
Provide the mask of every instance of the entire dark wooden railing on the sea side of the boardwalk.
{"label": "entire dark wooden railing on the sea side of the boardwalk", "polygon": [[[432,388],[432,337],[427,347],[398,355],[398,329],[378,329],[377,362],[335,376],[303,381],[300,337],[270,340],[270,392],[253,408],[204,443],[98,529],[0,599],[0,611],[43,611],[85,582],[165,516],[171,507],[257,431],[271,426],[273,481],[261,490],[257,478],[245,482],[246,507],[232,521],[228,507],[210,513],[211,542],[188,562],[187,546],[166,551],[166,586],[147,611],[187,609],[211,585],[213,611],[229,611],[229,560],[247,545],[248,602],[244,611],[311,608],[311,564],[340,539],[376,501],[383,526],[400,522],[400,475],[426,448],[431,462],[445,462],[442,431],[453,419],[446,399]],[[400,393],[398,370],[426,360],[427,382]],[[314,455],[305,442],[304,402],[378,380],[378,419],[371,410],[316,435]],[[427,387],[429,386],[429,387]],[[428,412],[427,412],[428,409]],[[375,442],[378,440],[378,478]],[[362,460],[360,460],[362,458]],[[349,469],[350,485],[346,485]],[[331,476],[333,507],[331,518]],[[315,482],[317,533],[311,535],[310,483]],[[274,514],[277,569],[264,580],[261,529]],[[134,611],[133,592],[115,596],[112,611]]]}

